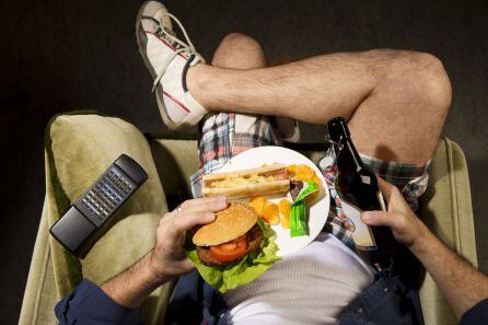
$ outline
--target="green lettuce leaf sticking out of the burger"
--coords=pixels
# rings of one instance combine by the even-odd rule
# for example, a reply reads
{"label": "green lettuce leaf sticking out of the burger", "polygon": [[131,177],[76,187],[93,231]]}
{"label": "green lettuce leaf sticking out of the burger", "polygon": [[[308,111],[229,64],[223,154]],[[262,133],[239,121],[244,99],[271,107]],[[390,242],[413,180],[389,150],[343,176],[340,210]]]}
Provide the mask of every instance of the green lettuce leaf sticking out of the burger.
{"label": "green lettuce leaf sticking out of the burger", "polygon": [[221,293],[247,285],[270,268],[275,262],[281,259],[276,255],[278,245],[275,242],[275,231],[260,219],[257,220],[257,224],[263,230],[263,241],[259,248],[235,263],[224,267],[204,265],[198,258],[195,247],[187,249],[186,256],[195,264],[204,280]]}

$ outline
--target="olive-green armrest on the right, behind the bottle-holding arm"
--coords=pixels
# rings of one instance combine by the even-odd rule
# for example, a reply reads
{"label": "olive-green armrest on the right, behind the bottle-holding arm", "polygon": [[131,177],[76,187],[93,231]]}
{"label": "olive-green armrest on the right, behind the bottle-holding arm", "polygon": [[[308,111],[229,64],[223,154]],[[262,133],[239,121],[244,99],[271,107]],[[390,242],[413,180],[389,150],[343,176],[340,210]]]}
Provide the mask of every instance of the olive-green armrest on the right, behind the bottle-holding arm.
{"label": "olive-green armrest on the right, behind the bottle-holding arm", "polygon": [[[457,254],[477,266],[473,208],[466,159],[453,141],[441,139],[432,159],[429,187],[421,199],[420,218]],[[457,318],[432,278],[420,289],[426,325],[457,324]]]}

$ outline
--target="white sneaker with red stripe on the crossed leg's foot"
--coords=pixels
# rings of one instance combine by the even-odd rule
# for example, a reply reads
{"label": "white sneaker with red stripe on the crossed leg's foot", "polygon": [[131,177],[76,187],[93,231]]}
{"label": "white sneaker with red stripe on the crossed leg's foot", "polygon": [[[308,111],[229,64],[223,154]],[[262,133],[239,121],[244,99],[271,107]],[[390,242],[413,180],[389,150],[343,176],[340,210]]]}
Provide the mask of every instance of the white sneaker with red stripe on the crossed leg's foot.
{"label": "white sneaker with red stripe on the crossed leg's foot", "polygon": [[[171,20],[179,26],[187,43],[175,36]],[[182,23],[162,3],[148,1],[137,16],[136,37],[154,79],[152,91],[166,126],[176,130],[196,125],[207,111],[188,92],[186,72],[205,60],[195,50]]]}

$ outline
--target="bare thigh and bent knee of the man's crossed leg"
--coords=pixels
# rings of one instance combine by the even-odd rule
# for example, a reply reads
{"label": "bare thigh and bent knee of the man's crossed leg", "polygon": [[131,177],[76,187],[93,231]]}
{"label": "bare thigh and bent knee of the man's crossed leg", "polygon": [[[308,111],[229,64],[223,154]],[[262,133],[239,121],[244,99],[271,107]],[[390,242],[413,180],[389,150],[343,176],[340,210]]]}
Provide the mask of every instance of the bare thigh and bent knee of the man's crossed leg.
{"label": "bare thigh and bent knee of the man's crossed leg", "polygon": [[358,150],[383,161],[425,165],[451,102],[442,63],[414,51],[372,50],[363,56],[376,58],[377,84],[349,120]]}

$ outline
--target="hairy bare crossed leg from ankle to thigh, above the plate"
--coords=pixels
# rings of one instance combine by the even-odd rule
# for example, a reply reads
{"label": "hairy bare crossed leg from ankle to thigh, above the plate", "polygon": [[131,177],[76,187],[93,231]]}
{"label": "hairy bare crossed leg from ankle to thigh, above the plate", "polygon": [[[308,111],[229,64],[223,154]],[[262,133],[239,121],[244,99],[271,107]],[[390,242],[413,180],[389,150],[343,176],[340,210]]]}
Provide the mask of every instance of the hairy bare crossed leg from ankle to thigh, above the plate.
{"label": "hairy bare crossed leg from ankle to thigh, above the plate", "polygon": [[441,62],[399,50],[318,56],[252,70],[198,65],[189,91],[205,107],[324,124],[349,119],[358,149],[384,160],[425,163],[451,102]]}

